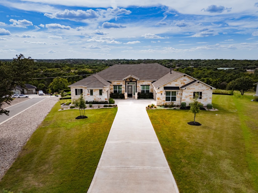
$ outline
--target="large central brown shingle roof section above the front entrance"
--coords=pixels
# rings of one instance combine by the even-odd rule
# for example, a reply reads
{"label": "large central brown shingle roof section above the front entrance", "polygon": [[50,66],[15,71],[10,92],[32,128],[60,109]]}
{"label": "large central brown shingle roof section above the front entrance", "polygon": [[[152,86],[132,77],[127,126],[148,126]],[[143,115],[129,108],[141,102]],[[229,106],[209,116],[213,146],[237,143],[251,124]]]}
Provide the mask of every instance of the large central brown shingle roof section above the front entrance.
{"label": "large central brown shingle roof section above the front entrance", "polygon": [[130,74],[133,74],[140,80],[155,81],[168,72],[170,72],[169,68],[157,63],[115,64],[98,72],[98,75],[107,81],[123,80],[123,78]]}

